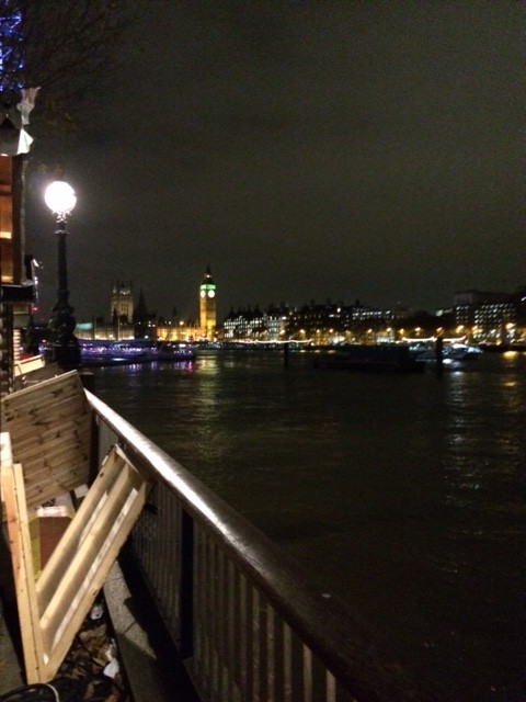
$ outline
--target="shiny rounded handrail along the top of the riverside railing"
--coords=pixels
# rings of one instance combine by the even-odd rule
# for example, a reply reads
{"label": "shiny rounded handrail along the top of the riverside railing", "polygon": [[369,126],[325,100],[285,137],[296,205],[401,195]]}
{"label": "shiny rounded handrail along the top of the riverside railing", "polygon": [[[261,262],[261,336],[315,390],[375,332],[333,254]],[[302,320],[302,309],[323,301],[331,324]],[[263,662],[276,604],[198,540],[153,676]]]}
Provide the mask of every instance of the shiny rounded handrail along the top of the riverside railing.
{"label": "shiny rounded handrail along the top of the riverside railing", "polygon": [[338,597],[309,582],[298,565],[178,461],[105,403],[85,390],[96,415],[117,434],[133,461],[153,472],[183,509],[265,595],[276,612],[311,648],[357,702],[438,702],[381,656],[366,625]]}

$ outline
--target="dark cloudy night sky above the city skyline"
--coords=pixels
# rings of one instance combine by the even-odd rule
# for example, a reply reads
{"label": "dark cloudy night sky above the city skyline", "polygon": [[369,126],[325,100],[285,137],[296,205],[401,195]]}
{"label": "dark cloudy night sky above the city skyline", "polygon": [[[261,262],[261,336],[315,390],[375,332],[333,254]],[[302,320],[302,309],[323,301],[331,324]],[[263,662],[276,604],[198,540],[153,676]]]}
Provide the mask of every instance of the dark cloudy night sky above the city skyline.
{"label": "dark cloudy night sky above the city skyline", "polygon": [[[207,263],[220,314],[329,297],[434,310],[526,283],[523,3],[142,4],[114,92],[53,145],[79,199],[78,318],[107,317],[115,278],[196,317]],[[31,196],[45,309],[53,220]]]}

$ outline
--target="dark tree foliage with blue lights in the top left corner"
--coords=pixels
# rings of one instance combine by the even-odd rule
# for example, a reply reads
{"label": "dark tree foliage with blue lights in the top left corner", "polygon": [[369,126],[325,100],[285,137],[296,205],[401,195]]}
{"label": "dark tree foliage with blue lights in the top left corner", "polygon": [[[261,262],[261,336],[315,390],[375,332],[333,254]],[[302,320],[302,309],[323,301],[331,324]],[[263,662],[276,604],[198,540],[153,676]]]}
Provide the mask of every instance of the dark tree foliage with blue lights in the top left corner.
{"label": "dark tree foliage with blue lights in the top left corner", "polygon": [[[32,125],[75,127],[111,84],[140,3],[129,0],[0,0],[0,90],[16,103],[20,88],[39,88]],[[32,132],[35,127],[32,126]]]}

